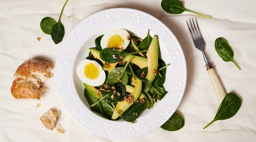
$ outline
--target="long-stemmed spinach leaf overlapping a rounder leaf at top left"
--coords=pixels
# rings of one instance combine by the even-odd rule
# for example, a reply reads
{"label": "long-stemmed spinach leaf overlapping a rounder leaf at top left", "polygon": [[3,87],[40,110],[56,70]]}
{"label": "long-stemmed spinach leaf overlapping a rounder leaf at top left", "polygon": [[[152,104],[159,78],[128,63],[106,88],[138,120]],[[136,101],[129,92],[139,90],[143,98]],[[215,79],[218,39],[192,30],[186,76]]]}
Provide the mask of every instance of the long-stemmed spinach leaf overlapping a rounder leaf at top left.
{"label": "long-stemmed spinach leaf overlapping a rounder leaf at top left", "polygon": [[56,23],[51,30],[51,36],[52,40],[54,41],[55,44],[58,44],[62,41],[64,35],[65,35],[65,28],[63,24],[61,23],[61,16],[63,14],[64,7],[66,6],[68,0],[66,0],[64,6],[61,9],[61,14],[58,20],[58,23]]}

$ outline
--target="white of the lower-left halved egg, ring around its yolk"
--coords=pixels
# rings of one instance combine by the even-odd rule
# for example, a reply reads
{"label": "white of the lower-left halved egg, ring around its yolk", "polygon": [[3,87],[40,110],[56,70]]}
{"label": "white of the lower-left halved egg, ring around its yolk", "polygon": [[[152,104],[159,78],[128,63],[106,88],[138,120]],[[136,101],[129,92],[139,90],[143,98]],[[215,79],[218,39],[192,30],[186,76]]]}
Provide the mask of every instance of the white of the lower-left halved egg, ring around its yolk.
{"label": "white of the lower-left halved egg, ring around its yolk", "polygon": [[[84,75],[84,68],[89,63],[92,63],[92,64],[96,65],[96,67],[98,67],[98,70],[99,70],[98,78],[89,79]],[[91,61],[91,60],[88,60],[88,59],[84,59],[80,62],[80,64],[76,68],[76,74],[77,74],[77,76],[79,77],[79,79],[81,81],[83,81],[85,84],[88,84],[90,86],[102,85],[105,82],[105,79],[106,79],[106,74],[105,74],[104,70],[102,70],[102,67],[100,66],[100,64],[97,63],[96,61]]]}

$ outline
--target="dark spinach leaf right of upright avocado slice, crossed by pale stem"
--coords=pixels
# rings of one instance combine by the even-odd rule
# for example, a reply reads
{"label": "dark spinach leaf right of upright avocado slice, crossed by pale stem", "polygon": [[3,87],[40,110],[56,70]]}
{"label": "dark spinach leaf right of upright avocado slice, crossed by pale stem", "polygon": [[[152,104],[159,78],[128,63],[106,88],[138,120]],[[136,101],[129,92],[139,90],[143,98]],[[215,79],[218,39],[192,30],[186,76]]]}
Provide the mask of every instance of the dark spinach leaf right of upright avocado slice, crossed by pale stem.
{"label": "dark spinach leaf right of upright avocado slice, crossed by pale stem", "polygon": [[[164,67],[166,65],[166,63],[160,58],[158,58],[158,64],[159,64],[158,70],[161,67]],[[159,75],[159,73],[162,75],[162,77]],[[157,76],[154,78],[154,81],[152,82],[152,85],[154,87],[163,86],[163,84],[166,80],[166,68],[159,71],[159,73],[157,74]]]}

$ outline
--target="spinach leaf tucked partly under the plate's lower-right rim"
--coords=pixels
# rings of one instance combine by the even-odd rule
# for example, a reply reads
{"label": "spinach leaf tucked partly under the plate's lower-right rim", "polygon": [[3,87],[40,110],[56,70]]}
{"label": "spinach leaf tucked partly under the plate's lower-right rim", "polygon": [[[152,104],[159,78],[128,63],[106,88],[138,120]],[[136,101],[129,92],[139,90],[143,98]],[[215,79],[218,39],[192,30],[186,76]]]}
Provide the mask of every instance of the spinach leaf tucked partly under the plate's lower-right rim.
{"label": "spinach leaf tucked partly under the plate's lower-right rim", "polygon": [[171,118],[169,118],[167,120],[167,122],[165,122],[161,126],[161,128],[163,130],[176,131],[176,130],[180,130],[181,128],[183,128],[184,125],[185,125],[185,122],[184,122],[183,117],[178,113],[173,113]]}

